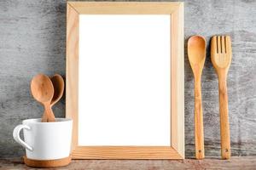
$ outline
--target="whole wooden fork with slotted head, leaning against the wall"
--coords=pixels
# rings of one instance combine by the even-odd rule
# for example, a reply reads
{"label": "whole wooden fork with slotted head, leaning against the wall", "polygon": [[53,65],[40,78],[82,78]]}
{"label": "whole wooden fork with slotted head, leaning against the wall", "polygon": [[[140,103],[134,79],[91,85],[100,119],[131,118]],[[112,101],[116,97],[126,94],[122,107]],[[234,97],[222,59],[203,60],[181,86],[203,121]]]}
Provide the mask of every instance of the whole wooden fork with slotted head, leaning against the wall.
{"label": "whole wooden fork with slotted head, leaning against the wall", "polygon": [[212,37],[211,59],[212,65],[218,74],[221,156],[223,159],[230,159],[230,123],[227,75],[232,59],[232,49],[229,36]]}

